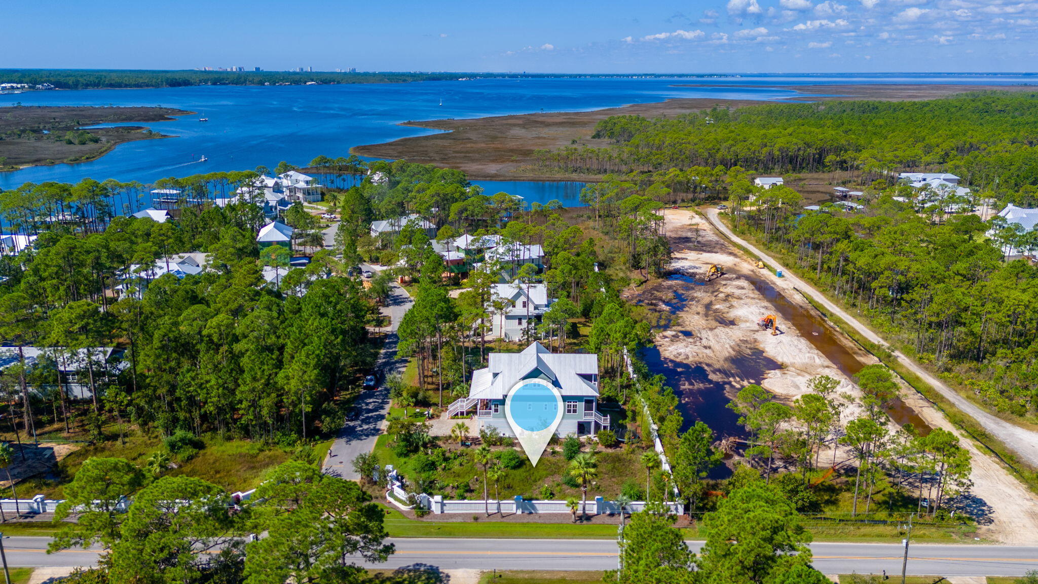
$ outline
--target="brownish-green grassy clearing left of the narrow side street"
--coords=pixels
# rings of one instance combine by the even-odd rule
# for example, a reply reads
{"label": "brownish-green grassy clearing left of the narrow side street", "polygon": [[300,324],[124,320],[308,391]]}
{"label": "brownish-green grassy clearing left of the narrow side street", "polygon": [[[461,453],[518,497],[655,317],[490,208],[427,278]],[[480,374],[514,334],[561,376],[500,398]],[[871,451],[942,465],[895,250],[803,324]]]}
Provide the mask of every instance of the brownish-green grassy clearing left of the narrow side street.
{"label": "brownish-green grassy clearing left of the narrow side street", "polygon": [[[206,448],[194,458],[176,469],[171,469],[167,474],[197,477],[234,493],[254,488],[263,481],[268,470],[289,459],[289,453],[276,446],[214,436],[206,436],[203,441]],[[115,440],[85,446],[58,462],[58,475],[61,477],[59,480],[33,478],[20,483],[19,489],[26,497],[43,494],[48,499],[62,499],[63,485],[72,481],[76,471],[87,458],[91,456],[126,458],[134,464],[143,467],[147,457],[162,448],[162,440],[158,436],[148,437],[140,434],[128,436],[125,445]],[[327,451],[327,447],[325,448]]]}

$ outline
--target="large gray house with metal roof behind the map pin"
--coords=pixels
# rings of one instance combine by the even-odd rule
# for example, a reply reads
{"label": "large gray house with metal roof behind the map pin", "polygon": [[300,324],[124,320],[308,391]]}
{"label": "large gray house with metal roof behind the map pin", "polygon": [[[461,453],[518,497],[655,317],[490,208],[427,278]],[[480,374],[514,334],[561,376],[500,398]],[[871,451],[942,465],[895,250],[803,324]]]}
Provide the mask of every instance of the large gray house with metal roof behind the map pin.
{"label": "large gray house with metal roof behind the map pin", "polygon": [[471,414],[480,429],[497,428],[515,436],[504,417],[504,400],[526,379],[543,379],[562,394],[566,410],[555,435],[586,435],[609,428],[609,417],[598,413],[598,355],[552,353],[540,343],[518,353],[490,353],[488,367],[472,372],[468,397],[452,403],[447,416]]}

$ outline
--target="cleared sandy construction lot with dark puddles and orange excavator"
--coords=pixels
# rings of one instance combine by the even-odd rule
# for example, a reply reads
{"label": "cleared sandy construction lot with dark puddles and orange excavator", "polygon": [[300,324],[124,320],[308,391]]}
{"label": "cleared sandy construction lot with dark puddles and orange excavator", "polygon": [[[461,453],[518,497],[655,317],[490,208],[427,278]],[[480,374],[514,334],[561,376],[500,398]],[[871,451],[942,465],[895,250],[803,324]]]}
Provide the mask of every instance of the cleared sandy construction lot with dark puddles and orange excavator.
{"label": "cleared sandy construction lot with dark puddles and orange excavator", "polygon": [[[825,324],[794,290],[798,284],[755,267],[690,211],[667,209],[663,214],[674,251],[671,267],[677,273],[647,285],[637,299],[674,314],[670,329],[656,338],[660,363],[655,365],[662,366],[682,394],[683,404],[691,406],[693,418],[727,427],[734,414],[723,407],[725,398],[748,382],[759,382],[789,402],[809,391],[808,379],[825,374],[841,381],[838,392],[859,395],[850,376],[877,361]],[[727,274],[696,284],[710,264],[722,265]],[[766,314],[778,316],[781,335],[771,336],[758,327],[757,321]],[[654,355],[647,356],[652,366]],[[717,386],[719,392],[714,389]],[[906,387],[902,395],[904,403],[892,412],[897,423],[953,431],[973,455],[974,487],[962,506],[986,524],[980,530],[982,536],[1013,545],[1038,540],[1038,497],[978,450],[917,392]],[[847,422],[857,413],[848,407],[842,419]],[[831,451],[823,452],[822,460],[832,456]],[[836,456],[846,459],[841,452]]]}

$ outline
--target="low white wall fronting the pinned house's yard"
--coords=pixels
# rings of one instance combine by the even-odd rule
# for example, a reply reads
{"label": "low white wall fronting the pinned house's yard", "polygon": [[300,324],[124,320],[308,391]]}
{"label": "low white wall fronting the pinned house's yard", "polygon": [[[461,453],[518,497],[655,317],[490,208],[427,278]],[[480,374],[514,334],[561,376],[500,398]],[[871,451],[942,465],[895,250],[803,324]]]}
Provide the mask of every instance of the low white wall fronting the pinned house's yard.
{"label": "low white wall fronting the pinned house's yard", "polygon": [[[567,505],[566,501],[529,500],[523,499],[521,496],[500,501],[484,501],[483,499],[443,499],[440,495],[429,496],[421,493],[414,496],[416,504],[410,504],[411,494],[404,489],[404,481],[397,474],[397,471],[392,466],[387,464],[385,472],[388,473],[389,479],[386,488],[386,501],[401,509],[414,509],[417,507],[429,510],[436,515],[443,513],[476,513],[483,512],[487,508],[491,512],[499,511],[502,514],[571,512],[570,506]],[[628,503],[624,507],[624,510],[628,513],[636,513],[645,510],[647,504],[645,501],[635,501]],[[685,506],[682,503],[667,502],[664,505],[666,505],[672,513],[680,515],[685,512]],[[578,511],[583,511],[582,502]],[[620,504],[616,501],[606,501],[602,497],[595,497],[588,500],[588,512],[596,515],[619,514]]]}

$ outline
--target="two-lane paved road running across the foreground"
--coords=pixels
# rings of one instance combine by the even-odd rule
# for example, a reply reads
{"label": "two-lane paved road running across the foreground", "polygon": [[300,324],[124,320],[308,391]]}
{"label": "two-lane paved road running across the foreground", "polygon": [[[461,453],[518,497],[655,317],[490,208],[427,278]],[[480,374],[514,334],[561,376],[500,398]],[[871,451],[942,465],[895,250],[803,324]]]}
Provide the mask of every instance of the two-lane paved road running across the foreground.
{"label": "two-lane paved road running across the foreground", "polygon": [[[98,554],[67,550],[47,555],[47,537],[4,539],[7,561],[18,566],[91,565]],[[397,553],[381,567],[415,564],[441,569],[611,569],[617,543],[610,539],[391,539]],[[700,541],[689,541],[698,551]],[[890,543],[814,543],[815,567],[824,574],[901,573],[902,548]],[[1038,569],[1038,547],[932,546],[909,548],[908,574],[934,576],[1021,576]],[[358,562],[361,562],[359,558]]]}

